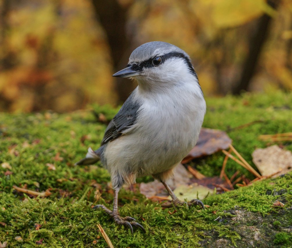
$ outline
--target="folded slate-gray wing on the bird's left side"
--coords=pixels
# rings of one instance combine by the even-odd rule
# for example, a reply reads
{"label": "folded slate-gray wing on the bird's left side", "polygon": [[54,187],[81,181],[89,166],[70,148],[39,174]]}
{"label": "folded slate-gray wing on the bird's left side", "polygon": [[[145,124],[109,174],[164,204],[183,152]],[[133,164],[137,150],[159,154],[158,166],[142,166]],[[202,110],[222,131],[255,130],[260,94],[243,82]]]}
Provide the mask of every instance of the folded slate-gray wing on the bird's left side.
{"label": "folded slate-gray wing on the bird's left side", "polygon": [[119,112],[110,121],[105,130],[105,135],[101,141],[101,145],[119,138],[123,131],[135,124],[141,104],[133,100],[134,93],[135,92],[132,92]]}

